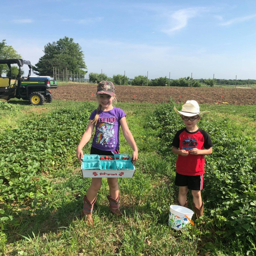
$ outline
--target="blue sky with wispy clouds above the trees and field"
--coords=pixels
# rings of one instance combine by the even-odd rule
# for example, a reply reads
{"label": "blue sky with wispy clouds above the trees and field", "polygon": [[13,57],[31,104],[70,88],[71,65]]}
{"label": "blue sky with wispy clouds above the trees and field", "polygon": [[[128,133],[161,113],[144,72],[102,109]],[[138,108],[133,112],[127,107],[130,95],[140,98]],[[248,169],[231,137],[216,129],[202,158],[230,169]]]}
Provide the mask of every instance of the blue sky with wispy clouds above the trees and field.
{"label": "blue sky with wispy clouds above the trees and field", "polygon": [[0,40],[33,65],[64,36],[88,72],[256,79],[256,1],[2,0]]}

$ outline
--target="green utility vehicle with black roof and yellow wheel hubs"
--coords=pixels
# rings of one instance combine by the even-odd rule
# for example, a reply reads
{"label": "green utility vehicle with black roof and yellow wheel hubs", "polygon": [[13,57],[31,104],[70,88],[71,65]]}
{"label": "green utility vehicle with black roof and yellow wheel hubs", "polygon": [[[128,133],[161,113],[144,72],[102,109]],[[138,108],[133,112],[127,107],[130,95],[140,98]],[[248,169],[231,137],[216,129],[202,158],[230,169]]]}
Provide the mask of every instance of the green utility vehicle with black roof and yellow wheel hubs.
{"label": "green utility vehicle with black roof and yellow wheel hubs", "polygon": [[[18,98],[29,100],[33,105],[43,105],[44,102],[52,101],[52,91],[57,88],[57,80],[50,76],[31,76],[31,63],[22,59],[0,60],[0,64],[6,64],[9,72],[6,77],[0,77],[0,99],[10,100]],[[12,82],[11,64],[17,64],[19,73],[15,81]],[[21,76],[20,70],[23,65],[28,65],[28,76]]]}

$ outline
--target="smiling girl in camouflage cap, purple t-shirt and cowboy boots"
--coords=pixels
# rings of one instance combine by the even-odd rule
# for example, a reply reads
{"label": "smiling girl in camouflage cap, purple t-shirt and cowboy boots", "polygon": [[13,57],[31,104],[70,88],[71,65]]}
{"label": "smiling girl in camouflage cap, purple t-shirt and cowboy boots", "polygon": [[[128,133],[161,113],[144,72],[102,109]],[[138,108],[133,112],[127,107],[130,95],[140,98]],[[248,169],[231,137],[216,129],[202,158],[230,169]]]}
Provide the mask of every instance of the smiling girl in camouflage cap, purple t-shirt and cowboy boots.
{"label": "smiling girl in camouflage cap, purple t-shirt and cowboy boots", "polygon": [[[90,154],[113,156],[119,154],[119,127],[121,125],[124,138],[133,149],[132,163],[138,159],[138,148],[130,132],[124,111],[112,105],[116,102],[115,86],[112,82],[101,81],[97,87],[96,99],[98,108],[94,110],[89,118],[87,129],[76,149],[76,157],[81,162],[83,158],[83,147],[91,139],[94,126],[95,135],[92,140]],[[113,214],[122,216],[119,210],[119,186],[117,178],[107,178],[109,186],[109,206]],[[97,193],[101,187],[101,178],[92,178],[91,186],[84,195],[84,207],[82,218],[90,227],[93,226],[92,209],[96,202]]]}

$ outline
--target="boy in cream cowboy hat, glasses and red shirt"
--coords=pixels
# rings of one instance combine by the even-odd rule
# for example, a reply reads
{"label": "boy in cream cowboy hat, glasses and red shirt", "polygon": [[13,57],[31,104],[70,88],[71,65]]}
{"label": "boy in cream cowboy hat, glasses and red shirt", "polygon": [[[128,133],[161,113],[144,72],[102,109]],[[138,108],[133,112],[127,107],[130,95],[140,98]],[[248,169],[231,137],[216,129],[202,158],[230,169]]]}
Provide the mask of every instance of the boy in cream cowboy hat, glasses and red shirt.
{"label": "boy in cream cowboy hat, glasses and red shirt", "polygon": [[204,202],[201,198],[203,189],[204,155],[212,154],[212,140],[207,132],[197,127],[200,115],[199,105],[195,100],[187,100],[182,110],[176,113],[186,125],[179,130],[172,141],[172,152],[179,155],[176,161],[175,185],[179,186],[178,205],[188,207],[187,193],[191,189],[193,206],[198,219],[204,214]]}

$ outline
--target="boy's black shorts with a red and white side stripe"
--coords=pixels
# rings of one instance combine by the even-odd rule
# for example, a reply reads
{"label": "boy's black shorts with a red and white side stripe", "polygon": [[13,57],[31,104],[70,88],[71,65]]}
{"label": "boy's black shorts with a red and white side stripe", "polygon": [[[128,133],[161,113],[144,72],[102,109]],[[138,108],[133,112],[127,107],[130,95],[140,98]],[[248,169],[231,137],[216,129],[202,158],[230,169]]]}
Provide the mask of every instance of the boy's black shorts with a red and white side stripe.
{"label": "boy's black shorts with a red and white side stripe", "polygon": [[188,176],[179,174],[176,172],[175,185],[179,187],[188,186],[191,190],[202,190],[204,184],[204,178],[202,175]]}

